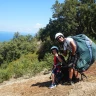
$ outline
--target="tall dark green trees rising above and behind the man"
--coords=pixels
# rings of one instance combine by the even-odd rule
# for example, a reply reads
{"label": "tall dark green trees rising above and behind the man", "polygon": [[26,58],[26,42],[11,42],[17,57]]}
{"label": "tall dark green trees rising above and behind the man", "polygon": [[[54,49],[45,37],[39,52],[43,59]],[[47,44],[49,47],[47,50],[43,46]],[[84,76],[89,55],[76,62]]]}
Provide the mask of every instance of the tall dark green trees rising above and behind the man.
{"label": "tall dark green trees rising above and behind the man", "polygon": [[96,2],[93,0],[56,0],[52,6],[52,19],[45,28],[40,30],[40,39],[50,37],[54,41],[57,32],[65,36],[86,34],[96,39]]}

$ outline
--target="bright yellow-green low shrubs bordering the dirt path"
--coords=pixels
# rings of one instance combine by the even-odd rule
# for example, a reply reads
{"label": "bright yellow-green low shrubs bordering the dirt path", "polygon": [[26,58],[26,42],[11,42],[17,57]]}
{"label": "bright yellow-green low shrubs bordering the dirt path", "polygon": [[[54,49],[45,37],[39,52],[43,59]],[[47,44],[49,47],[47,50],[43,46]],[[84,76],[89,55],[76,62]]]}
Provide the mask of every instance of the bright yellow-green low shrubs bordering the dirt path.
{"label": "bright yellow-green low shrubs bordering the dirt path", "polygon": [[23,76],[32,77],[45,68],[50,70],[52,62],[51,54],[46,54],[45,59],[40,62],[36,54],[29,53],[23,55],[21,58],[9,64],[2,64],[0,67],[0,82],[9,80],[10,78],[19,78]]}

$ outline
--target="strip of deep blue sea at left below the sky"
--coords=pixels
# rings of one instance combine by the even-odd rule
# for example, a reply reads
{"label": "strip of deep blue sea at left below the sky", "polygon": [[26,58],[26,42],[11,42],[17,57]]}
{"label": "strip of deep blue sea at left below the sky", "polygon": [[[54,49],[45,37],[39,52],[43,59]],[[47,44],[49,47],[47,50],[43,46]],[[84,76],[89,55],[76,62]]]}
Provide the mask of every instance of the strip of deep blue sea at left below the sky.
{"label": "strip of deep blue sea at left below the sky", "polygon": [[[4,42],[4,41],[10,41],[11,39],[13,39],[13,36],[16,32],[8,32],[8,31],[0,31],[0,42]],[[27,32],[25,34],[25,32],[20,33],[20,35],[28,35]],[[30,34],[32,36],[35,36],[35,34]]]}

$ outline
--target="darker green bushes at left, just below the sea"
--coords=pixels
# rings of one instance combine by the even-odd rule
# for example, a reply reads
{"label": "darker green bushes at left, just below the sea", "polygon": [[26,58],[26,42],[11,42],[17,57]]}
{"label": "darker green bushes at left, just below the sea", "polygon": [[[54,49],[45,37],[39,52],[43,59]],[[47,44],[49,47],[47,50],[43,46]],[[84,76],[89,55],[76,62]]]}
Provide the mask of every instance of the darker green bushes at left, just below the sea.
{"label": "darker green bushes at left, just below the sea", "polygon": [[37,39],[31,35],[19,35],[17,32],[12,40],[2,42],[0,45],[0,64],[2,64],[5,61],[8,63],[19,59],[23,54],[36,52]]}

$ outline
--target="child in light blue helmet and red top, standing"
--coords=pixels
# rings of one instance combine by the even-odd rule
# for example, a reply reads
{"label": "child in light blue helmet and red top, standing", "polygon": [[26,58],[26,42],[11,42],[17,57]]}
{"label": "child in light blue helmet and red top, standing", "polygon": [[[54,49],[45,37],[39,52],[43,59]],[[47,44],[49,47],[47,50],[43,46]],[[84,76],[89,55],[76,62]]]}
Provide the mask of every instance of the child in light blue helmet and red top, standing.
{"label": "child in light blue helmet and red top, standing", "polygon": [[51,75],[51,79],[52,79],[52,84],[49,88],[54,88],[56,87],[56,75],[57,73],[59,73],[61,70],[61,66],[60,63],[63,62],[63,57],[58,53],[59,49],[57,46],[52,46],[51,47],[51,52],[54,56],[54,64],[53,64],[53,68],[52,68],[52,75]]}

